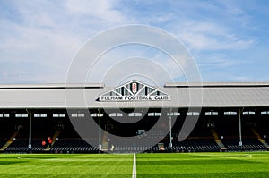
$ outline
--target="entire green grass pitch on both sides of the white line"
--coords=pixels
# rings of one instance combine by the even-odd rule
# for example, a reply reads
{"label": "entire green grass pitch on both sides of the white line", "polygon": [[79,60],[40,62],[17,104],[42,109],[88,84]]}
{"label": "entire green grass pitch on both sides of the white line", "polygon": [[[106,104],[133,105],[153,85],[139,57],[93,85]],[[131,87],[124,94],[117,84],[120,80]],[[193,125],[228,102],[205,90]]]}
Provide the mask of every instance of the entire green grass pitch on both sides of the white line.
{"label": "entire green grass pitch on both sides of the white line", "polygon": [[[0,177],[132,177],[134,155],[1,154]],[[136,154],[137,177],[269,177],[269,152]]]}

